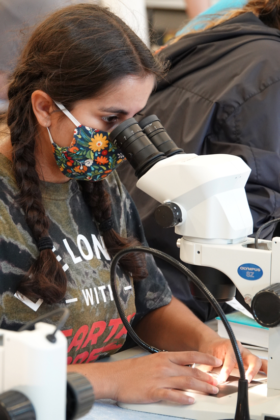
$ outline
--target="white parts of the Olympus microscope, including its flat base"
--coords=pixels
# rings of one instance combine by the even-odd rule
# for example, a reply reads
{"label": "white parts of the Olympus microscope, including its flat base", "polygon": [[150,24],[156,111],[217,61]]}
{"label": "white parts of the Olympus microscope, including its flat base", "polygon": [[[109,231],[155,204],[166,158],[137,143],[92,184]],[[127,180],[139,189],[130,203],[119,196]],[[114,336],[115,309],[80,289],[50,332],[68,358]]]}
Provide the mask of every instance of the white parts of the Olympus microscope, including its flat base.
{"label": "white parts of the Olympus microscope, including its flat base", "polygon": [[[182,221],[175,232],[182,261],[225,273],[248,303],[260,290],[279,283],[280,238],[260,240],[256,249],[253,219],[244,186],[250,168],[232,155],[178,154],[157,162],[137,187],[160,203],[175,203]],[[267,309],[269,310],[269,309]],[[214,398],[195,394],[193,406],[168,403],[123,407],[194,420],[233,418],[237,394]],[[249,389],[251,420],[280,420],[280,327],[269,329],[268,380]],[[206,417],[207,416],[207,417]]]}

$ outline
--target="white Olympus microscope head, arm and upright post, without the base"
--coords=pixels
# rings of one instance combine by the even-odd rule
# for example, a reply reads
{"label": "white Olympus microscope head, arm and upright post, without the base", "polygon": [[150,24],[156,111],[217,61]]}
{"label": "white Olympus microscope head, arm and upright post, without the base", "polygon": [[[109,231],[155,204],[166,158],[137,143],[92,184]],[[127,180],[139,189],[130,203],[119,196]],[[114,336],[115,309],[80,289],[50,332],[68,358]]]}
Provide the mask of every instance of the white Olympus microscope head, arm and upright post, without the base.
{"label": "white Olympus microscope head, arm and upright post, without the base", "polygon": [[253,232],[244,189],[249,174],[237,156],[178,154],[157,162],[137,187],[162,203],[161,226],[168,227],[166,215],[173,212],[170,226],[182,236],[180,259],[225,273],[246,303],[255,303],[255,319],[276,327],[269,330],[268,388],[279,393],[280,238],[260,240],[260,249],[248,238]]}

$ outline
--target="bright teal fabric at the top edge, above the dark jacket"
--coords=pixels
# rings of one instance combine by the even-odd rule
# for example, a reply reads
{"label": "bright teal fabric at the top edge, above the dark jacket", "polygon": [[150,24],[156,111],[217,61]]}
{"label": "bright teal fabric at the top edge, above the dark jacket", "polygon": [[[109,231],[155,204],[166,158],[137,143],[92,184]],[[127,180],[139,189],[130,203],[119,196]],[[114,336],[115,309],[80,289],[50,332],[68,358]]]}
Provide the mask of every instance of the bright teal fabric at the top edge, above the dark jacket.
{"label": "bright teal fabric at the top edge, above the dark jacket", "polygon": [[[209,9],[202,12],[199,16],[192,19],[188,22],[183,29],[177,32],[176,36],[187,34],[190,30],[196,29],[203,29],[207,22],[207,15],[215,15],[221,14],[222,12],[226,13],[229,9],[238,9],[243,7],[247,3],[247,0],[220,0],[214,6],[210,7]],[[209,19],[211,17],[209,16]],[[205,22],[206,20],[206,22]]]}

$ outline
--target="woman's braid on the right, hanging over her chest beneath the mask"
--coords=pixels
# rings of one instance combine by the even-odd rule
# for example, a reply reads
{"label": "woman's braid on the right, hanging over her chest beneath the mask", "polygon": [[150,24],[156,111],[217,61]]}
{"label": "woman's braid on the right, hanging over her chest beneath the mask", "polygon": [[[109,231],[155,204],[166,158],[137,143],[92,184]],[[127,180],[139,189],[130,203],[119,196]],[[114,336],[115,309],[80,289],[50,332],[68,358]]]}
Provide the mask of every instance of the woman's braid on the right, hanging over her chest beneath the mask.
{"label": "woman's braid on the right, hanging over her chest beneath the mask", "polygon": [[[83,198],[90,206],[96,221],[101,223],[108,219],[111,216],[111,203],[104,181],[80,181],[79,183],[82,187]],[[103,239],[110,257],[114,257],[121,249],[142,245],[133,236],[123,238],[114,229],[104,232]],[[134,280],[141,280],[148,276],[144,254],[127,254],[121,259],[120,264],[126,272],[132,273]]]}

